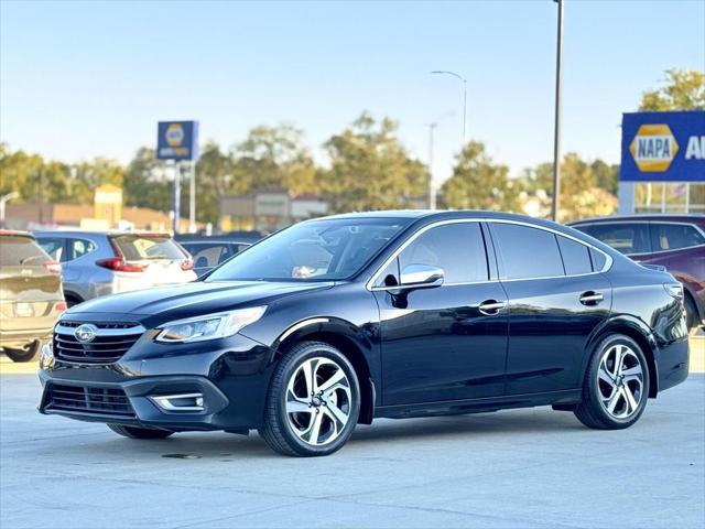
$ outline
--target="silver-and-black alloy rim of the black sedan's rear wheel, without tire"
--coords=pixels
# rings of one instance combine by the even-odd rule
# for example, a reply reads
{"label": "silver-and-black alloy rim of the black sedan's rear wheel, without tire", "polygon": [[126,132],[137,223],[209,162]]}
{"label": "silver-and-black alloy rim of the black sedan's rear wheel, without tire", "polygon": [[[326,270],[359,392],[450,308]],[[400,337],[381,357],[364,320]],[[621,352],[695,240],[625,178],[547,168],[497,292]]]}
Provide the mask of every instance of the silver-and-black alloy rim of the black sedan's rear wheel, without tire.
{"label": "silver-and-black alloy rim of the black sedan's rear wheel, without tire", "polygon": [[628,419],[639,410],[643,395],[644,369],[627,345],[607,348],[597,369],[599,402],[615,419]]}

